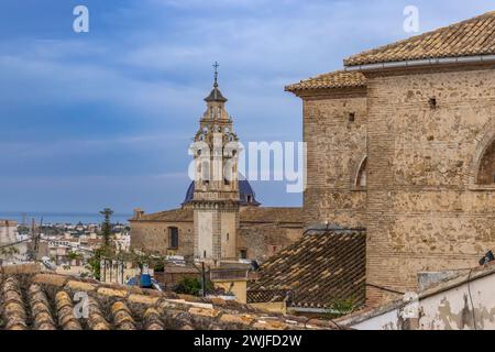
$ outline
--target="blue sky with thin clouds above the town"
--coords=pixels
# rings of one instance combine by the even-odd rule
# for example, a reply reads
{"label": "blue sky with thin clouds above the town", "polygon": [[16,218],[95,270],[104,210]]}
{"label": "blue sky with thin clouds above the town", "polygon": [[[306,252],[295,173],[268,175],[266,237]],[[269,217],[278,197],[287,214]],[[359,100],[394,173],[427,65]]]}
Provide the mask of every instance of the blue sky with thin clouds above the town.
{"label": "blue sky with thin clouds above the town", "polygon": [[[187,147],[218,61],[237,132],[300,141],[286,84],[351,54],[495,9],[493,1],[2,0],[0,211],[176,207]],[[73,31],[87,6],[90,32]],[[266,206],[298,206],[283,183],[254,183]]]}

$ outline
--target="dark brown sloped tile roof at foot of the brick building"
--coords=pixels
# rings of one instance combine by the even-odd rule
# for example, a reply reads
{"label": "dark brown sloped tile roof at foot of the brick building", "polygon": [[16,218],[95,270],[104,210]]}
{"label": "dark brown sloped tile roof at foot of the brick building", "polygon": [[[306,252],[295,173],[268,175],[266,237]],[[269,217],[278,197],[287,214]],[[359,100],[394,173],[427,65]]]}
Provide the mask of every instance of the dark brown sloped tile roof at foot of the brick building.
{"label": "dark brown sloped tile roof at foot of the brick building", "polygon": [[261,266],[248,299],[288,299],[293,307],[329,308],[336,299],[365,302],[364,231],[310,232]]}

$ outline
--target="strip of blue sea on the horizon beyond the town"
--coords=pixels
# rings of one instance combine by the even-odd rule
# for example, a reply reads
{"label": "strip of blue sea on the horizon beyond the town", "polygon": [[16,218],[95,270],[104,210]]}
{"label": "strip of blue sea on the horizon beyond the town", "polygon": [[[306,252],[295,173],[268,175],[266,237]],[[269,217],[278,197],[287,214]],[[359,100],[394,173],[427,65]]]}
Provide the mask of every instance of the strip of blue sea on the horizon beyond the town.
{"label": "strip of blue sea on the horizon beyond the town", "polygon": [[[43,218],[43,223],[100,223],[103,217],[99,212],[57,212],[57,211],[0,211],[0,219],[15,220],[18,223],[25,221],[36,223]],[[112,215],[112,223],[128,223],[131,213],[116,212]]]}

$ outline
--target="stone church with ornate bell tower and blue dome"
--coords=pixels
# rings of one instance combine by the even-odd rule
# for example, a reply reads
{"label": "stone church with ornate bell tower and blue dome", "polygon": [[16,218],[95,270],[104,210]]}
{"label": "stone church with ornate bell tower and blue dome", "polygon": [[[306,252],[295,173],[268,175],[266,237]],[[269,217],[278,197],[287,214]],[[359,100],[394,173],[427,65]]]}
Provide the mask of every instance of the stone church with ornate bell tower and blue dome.
{"label": "stone church with ornate bell tower and blue dome", "polygon": [[264,261],[302,233],[301,208],[265,208],[238,177],[238,136],[217,74],[193,147],[195,180],[178,209],[131,222],[131,248],[207,261]]}

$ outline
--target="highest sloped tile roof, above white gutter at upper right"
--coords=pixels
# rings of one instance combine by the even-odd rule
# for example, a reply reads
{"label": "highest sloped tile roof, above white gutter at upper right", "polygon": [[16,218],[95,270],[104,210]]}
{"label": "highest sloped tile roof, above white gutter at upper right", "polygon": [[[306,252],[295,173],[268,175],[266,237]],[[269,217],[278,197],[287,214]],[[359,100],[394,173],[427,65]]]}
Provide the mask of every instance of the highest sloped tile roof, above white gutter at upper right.
{"label": "highest sloped tile roof, above white gutter at upper right", "polygon": [[495,12],[344,59],[345,66],[495,54]]}

